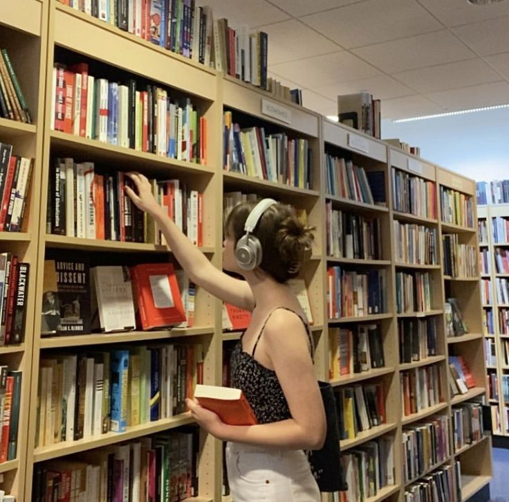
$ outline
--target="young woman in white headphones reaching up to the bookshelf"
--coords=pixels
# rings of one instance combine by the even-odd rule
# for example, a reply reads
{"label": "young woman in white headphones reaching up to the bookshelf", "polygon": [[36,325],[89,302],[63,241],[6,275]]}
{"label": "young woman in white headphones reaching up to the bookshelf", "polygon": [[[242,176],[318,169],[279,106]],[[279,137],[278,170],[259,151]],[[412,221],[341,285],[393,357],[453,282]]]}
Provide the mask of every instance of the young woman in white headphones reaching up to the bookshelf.
{"label": "young woman in white headphones reaching up to the bookshelf", "polygon": [[[303,450],[323,445],[324,406],[313,368],[311,332],[286,285],[311,254],[311,231],[288,206],[271,199],[256,208],[239,204],[225,226],[223,269],[246,280],[232,278],[216,269],[169,219],[145,176],[133,172],[129,177],[137,193],[126,188],[127,195],[154,217],[189,279],[221,300],[252,312],[251,323],[232,354],[232,386],[243,390],[259,424],[228,425],[196,400],[187,400],[196,422],[228,442],[226,463],[234,502],[320,501]],[[252,237],[259,240],[261,261],[246,267],[245,253],[239,249],[236,253],[236,246],[246,234],[246,221],[252,223],[253,218],[248,241],[251,245]]]}

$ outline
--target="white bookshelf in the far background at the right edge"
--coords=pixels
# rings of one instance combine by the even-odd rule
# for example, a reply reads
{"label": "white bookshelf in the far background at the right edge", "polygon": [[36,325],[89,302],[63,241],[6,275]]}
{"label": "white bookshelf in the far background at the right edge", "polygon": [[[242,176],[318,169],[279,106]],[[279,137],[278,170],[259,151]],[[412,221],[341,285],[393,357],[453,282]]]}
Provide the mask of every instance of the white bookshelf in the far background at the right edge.
{"label": "white bookshelf in the far background at the right edge", "polygon": [[[503,314],[507,312],[503,297],[497,294],[499,283],[503,283],[506,274],[499,273],[500,264],[497,264],[497,256],[501,255],[501,265],[508,244],[503,233],[495,233],[495,224],[500,222],[500,231],[503,230],[505,219],[509,218],[508,204],[489,204],[477,206],[477,221],[479,235],[479,260],[481,262],[481,287],[489,295],[486,298],[483,311],[483,335],[486,350],[492,356],[492,364],[487,368],[487,385],[489,386],[490,406],[492,408],[492,427],[496,436],[508,436],[507,426],[507,403],[503,394],[503,381],[508,377],[508,365],[506,364],[506,343],[508,340],[507,330],[503,328]],[[489,344],[489,346],[488,346]],[[487,355],[488,357],[488,355]]]}

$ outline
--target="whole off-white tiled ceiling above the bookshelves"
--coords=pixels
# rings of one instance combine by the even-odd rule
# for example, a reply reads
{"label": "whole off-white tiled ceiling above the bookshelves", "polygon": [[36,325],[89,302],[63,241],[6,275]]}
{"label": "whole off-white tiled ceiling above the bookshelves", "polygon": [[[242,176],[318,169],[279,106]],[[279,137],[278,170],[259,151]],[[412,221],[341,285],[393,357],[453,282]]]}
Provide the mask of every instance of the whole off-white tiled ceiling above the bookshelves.
{"label": "whole off-white tiled ceiling above the bookshelves", "polygon": [[269,76],[322,115],[359,91],[392,119],[509,103],[509,0],[203,1],[268,33]]}

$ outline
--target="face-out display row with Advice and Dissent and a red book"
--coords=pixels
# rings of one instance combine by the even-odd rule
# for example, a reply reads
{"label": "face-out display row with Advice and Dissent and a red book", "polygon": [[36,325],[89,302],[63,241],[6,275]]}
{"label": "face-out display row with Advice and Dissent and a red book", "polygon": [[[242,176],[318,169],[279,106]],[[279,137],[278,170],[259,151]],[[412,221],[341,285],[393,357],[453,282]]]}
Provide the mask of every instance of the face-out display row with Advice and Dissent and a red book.
{"label": "face-out display row with Advice and Dissent and a red book", "polygon": [[44,262],[41,334],[192,326],[195,293],[172,263],[91,268],[85,253],[55,251]]}

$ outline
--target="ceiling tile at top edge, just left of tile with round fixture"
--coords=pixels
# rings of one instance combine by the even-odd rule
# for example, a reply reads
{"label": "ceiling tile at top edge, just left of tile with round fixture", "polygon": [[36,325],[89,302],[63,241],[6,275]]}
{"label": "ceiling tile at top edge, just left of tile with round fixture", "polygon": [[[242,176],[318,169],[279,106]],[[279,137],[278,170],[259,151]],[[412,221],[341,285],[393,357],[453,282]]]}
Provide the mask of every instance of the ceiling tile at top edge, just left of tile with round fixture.
{"label": "ceiling tile at top edge, just left of tile with round fixture", "polygon": [[415,1],[369,0],[301,19],[344,48],[386,42],[443,26]]}

